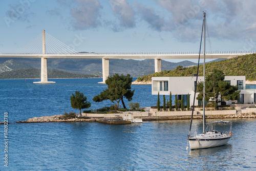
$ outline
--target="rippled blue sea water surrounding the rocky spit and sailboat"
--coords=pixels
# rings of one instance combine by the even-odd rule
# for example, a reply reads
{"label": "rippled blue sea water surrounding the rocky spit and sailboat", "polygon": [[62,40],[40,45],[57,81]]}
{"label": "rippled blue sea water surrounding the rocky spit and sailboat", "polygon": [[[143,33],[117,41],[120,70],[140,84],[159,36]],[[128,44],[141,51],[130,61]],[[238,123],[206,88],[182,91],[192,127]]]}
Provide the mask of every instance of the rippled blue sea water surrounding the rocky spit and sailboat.
{"label": "rippled blue sea water surrounding the rocky spit and sailboat", "polygon": [[[113,104],[92,100],[106,88],[98,83],[102,78],[48,80],[56,83],[0,80],[0,121],[9,122],[0,125],[0,170],[256,170],[256,119],[228,119],[233,136],[227,145],[192,151],[186,150],[190,120],[16,123],[78,113],[70,104],[75,91],[87,96],[92,110]],[[132,102],[156,105],[151,85],[132,85],[132,90]],[[202,120],[192,127],[200,132]]]}

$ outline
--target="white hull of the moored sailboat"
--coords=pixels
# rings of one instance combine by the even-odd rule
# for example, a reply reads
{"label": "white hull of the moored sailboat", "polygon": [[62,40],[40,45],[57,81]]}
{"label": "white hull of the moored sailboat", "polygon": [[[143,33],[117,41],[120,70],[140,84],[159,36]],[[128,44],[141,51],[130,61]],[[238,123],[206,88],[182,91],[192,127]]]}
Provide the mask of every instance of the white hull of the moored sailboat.
{"label": "white hull of the moored sailboat", "polygon": [[231,138],[230,135],[218,137],[218,138],[210,138],[210,137],[202,138],[198,135],[196,137],[189,138],[188,141],[189,141],[190,149],[199,149],[199,148],[209,148],[209,147],[225,145],[227,144],[230,138]]}

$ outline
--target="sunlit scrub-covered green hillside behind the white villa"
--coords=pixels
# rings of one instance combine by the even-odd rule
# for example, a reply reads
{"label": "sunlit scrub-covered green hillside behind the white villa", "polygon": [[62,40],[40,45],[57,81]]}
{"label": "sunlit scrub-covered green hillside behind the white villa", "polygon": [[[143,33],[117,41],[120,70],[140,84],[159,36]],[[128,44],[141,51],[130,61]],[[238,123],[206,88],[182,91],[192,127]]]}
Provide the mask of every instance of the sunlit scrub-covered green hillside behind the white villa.
{"label": "sunlit scrub-covered green hillside behind the white villa", "polygon": [[[205,73],[218,69],[224,72],[226,76],[246,76],[246,80],[256,80],[256,54],[238,56],[231,59],[225,59],[217,62],[205,64]],[[181,77],[192,76],[197,73],[197,67],[182,68],[178,66],[174,70],[162,71],[143,77],[138,77],[137,81],[151,81],[151,77]],[[199,76],[203,76],[203,65],[199,66]]]}

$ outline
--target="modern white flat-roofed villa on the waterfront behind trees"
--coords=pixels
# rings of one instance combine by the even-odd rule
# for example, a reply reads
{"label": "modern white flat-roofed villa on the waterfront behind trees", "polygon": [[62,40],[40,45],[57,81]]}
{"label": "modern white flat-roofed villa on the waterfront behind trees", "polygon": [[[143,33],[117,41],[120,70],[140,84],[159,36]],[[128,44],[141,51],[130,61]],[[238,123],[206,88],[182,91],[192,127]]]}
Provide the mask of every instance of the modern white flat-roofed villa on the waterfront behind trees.
{"label": "modern white flat-roofed villa on the waterfront behind trees", "polygon": [[[189,94],[190,106],[193,105],[194,90],[196,85],[196,76],[192,77],[152,77],[152,94],[157,95],[178,95],[178,99],[181,99],[183,95],[184,105],[187,105],[187,95]],[[256,89],[245,90],[245,76],[225,76],[225,81],[230,82],[232,86],[238,86],[240,92],[240,103],[254,103],[256,101]],[[198,82],[203,81],[203,77],[198,77]],[[197,97],[198,93],[196,94]],[[224,101],[224,100],[222,100]],[[200,101],[196,100],[195,105],[198,105]],[[227,104],[231,103],[231,100],[226,101]]]}

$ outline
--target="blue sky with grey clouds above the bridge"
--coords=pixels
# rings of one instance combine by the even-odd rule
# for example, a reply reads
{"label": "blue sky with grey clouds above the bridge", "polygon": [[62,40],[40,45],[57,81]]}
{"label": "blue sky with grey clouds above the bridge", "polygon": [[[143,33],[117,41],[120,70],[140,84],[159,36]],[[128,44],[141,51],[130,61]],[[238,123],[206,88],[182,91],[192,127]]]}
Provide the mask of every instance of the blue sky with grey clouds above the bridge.
{"label": "blue sky with grey clouds above the bridge", "polygon": [[255,9],[255,0],[0,0],[0,53],[42,30],[77,52],[197,52],[203,11],[206,51],[256,50]]}

